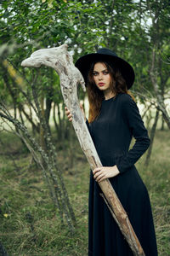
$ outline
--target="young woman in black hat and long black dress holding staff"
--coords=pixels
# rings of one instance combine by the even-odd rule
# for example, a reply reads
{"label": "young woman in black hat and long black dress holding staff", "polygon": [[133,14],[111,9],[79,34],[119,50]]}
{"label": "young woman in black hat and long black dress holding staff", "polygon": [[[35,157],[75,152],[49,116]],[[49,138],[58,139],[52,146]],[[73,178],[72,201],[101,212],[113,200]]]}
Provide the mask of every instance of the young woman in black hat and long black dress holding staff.
{"label": "young woman in black hat and long black dress holding staff", "polygon": [[[109,178],[145,255],[156,256],[150,198],[134,166],[149,147],[150,138],[133,96],[128,92],[134,81],[133,67],[110,49],[99,49],[97,53],[84,55],[75,66],[87,84],[87,125],[103,164],[90,175],[88,255],[133,255],[100,196],[98,183]],[[65,109],[71,120],[70,111]],[[135,143],[129,150],[132,137]]]}

